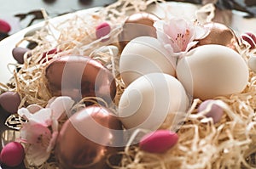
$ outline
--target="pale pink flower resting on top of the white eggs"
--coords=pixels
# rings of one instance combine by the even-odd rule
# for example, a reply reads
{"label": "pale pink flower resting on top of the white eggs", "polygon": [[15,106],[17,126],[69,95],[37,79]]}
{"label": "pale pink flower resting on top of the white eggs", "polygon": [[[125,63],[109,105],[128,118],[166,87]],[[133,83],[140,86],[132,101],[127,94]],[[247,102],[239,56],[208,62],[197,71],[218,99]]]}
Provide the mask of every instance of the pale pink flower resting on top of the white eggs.
{"label": "pale pink flower resting on top of the white eggs", "polygon": [[207,37],[209,31],[186,20],[172,18],[154,22],[157,39],[172,56],[182,57],[197,43],[196,40]]}

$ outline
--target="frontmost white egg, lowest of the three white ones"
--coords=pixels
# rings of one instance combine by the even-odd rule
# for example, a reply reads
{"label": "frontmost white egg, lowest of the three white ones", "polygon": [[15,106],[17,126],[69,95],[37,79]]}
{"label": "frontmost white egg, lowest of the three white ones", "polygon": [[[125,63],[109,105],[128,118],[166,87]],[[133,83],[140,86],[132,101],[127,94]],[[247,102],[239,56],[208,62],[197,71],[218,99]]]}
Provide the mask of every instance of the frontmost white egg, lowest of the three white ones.
{"label": "frontmost white egg, lowest of the three white ones", "polygon": [[172,114],[172,124],[183,121],[188,106],[187,94],[175,77],[150,73],[125,88],[118,116],[126,129],[155,130],[165,121],[166,115]]}

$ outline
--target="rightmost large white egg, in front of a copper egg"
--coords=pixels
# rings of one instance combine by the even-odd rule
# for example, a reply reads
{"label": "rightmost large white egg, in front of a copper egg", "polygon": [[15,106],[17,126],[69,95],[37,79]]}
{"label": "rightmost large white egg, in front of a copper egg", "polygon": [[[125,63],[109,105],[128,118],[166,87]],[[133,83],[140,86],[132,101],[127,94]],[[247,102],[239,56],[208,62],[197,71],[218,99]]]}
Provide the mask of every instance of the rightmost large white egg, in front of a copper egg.
{"label": "rightmost large white egg, in front of a copper egg", "polygon": [[177,63],[177,78],[194,98],[202,100],[241,93],[249,71],[241,55],[220,45],[194,48]]}

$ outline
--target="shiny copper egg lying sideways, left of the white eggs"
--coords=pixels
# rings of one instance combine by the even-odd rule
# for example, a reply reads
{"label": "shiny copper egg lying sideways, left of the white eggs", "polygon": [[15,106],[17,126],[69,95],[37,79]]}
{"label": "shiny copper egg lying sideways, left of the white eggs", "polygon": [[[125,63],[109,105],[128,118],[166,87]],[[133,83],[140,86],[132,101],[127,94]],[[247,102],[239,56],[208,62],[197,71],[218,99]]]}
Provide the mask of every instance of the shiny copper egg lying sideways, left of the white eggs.
{"label": "shiny copper egg lying sideways, left of the white eggs", "polygon": [[44,82],[51,95],[69,96],[77,101],[96,96],[111,103],[116,93],[111,71],[85,56],[52,60],[44,69]]}

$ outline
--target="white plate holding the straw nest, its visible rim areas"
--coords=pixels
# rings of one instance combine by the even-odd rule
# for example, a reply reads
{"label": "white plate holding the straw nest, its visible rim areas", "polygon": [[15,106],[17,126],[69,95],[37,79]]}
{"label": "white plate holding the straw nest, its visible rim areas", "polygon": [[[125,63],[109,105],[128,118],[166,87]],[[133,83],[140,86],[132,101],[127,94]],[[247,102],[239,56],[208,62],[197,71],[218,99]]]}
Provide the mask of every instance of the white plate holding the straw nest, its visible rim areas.
{"label": "white plate holding the straw nest, its visible rim areas", "polygon": [[[170,14],[173,14],[177,17],[183,17],[185,19],[193,19],[195,18],[195,10],[199,8],[199,6],[196,6],[191,3],[174,3],[169,2],[165,3],[164,5],[161,5],[161,8],[158,8],[157,6],[150,6],[147,11],[154,13],[160,18],[164,16],[162,8],[168,8],[168,12],[170,11]],[[53,19],[50,19],[49,22],[53,25],[57,25],[63,20],[67,20],[71,17],[73,17],[75,14],[88,14],[91,12],[95,12],[99,8],[89,8],[84,9],[76,13],[72,14],[65,14],[59,17],[55,17]],[[244,13],[234,11],[232,16],[232,21],[230,24],[230,27],[233,28],[236,33],[240,34],[242,32],[251,31],[256,33],[256,19],[244,19],[243,18]],[[27,31],[31,31],[37,27],[40,27],[44,25],[44,22],[38,23],[37,25],[32,25],[22,31],[19,31],[15,33],[14,35],[7,37],[2,42],[0,42],[0,82],[8,82],[9,78],[12,76],[11,71],[8,69],[9,63],[16,63],[15,59],[12,57],[12,49],[15,48],[15,44],[19,42]]]}

